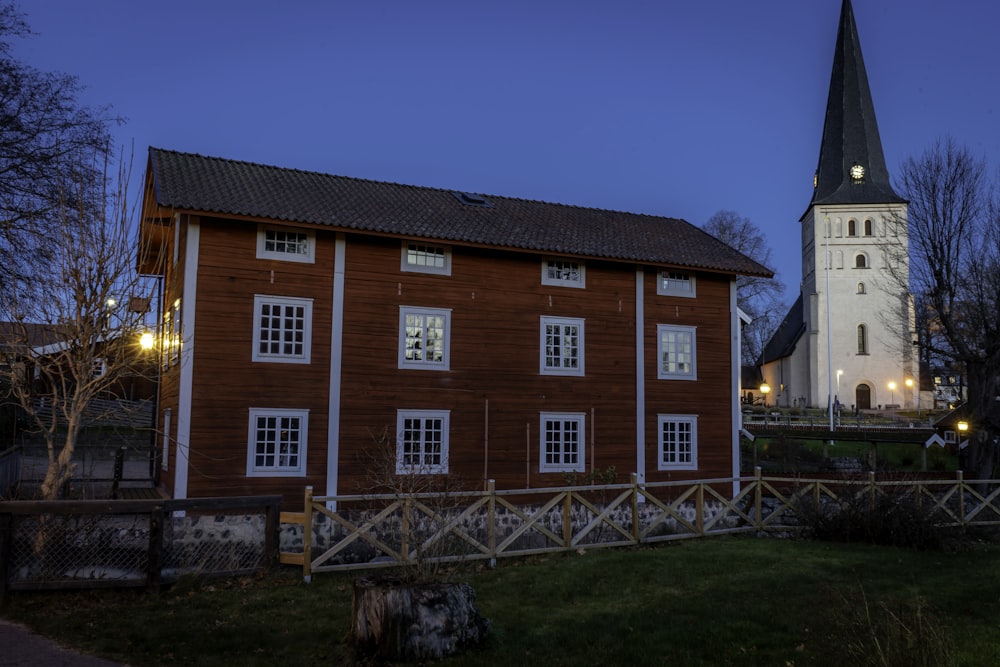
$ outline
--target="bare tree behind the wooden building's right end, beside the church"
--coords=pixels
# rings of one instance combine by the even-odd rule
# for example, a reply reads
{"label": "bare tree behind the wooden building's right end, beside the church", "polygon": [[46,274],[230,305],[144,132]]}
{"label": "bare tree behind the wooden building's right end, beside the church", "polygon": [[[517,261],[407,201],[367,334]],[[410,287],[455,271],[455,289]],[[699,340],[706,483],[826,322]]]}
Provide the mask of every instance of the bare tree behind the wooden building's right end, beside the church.
{"label": "bare tree behind the wooden building's right end, beside the church", "polygon": [[[720,241],[764,266],[771,266],[771,248],[761,231],[749,218],[735,211],[719,211],[702,227]],[[755,362],[764,351],[781,318],[788,309],[783,302],[785,286],[778,279],[759,276],[739,276],[736,279],[736,300],[753,321],[744,328],[743,359]]]}

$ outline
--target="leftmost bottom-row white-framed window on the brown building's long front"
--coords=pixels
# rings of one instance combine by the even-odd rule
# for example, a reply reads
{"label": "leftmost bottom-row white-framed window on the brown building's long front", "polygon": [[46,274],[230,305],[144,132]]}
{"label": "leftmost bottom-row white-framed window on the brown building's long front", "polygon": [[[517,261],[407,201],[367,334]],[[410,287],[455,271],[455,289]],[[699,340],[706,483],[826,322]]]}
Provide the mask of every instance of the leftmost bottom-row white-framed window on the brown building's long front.
{"label": "leftmost bottom-row white-framed window on the brown building's long front", "polygon": [[309,411],[250,408],[247,477],[304,477]]}

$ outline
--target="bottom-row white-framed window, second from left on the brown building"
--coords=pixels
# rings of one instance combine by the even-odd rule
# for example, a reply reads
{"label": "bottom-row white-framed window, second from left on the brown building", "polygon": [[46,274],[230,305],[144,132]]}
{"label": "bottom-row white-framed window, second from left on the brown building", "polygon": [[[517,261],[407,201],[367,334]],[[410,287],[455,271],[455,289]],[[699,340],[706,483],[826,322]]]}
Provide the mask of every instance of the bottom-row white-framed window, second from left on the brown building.
{"label": "bottom-row white-framed window, second from left on the brown building", "polygon": [[448,410],[396,412],[396,474],[448,472]]}

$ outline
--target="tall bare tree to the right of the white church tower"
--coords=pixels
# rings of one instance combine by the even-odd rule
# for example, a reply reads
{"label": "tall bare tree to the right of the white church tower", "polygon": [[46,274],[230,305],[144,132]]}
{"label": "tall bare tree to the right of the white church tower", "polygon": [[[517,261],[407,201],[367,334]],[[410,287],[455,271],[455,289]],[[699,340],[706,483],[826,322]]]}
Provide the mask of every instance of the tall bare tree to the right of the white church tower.
{"label": "tall bare tree to the right of the white church tower", "polygon": [[[985,160],[951,138],[937,141],[900,170],[899,192],[909,200],[909,284],[922,330],[921,357],[964,369],[972,427],[965,466],[991,477],[1000,442],[1000,206]],[[904,249],[905,250],[905,249]],[[905,266],[890,261],[891,267]]]}

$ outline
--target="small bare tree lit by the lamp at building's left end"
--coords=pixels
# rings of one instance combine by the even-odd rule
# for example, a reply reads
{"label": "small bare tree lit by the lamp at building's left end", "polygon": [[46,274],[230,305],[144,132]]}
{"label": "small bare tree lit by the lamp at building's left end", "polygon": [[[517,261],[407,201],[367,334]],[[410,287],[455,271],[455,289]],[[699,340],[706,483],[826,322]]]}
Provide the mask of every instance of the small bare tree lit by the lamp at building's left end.
{"label": "small bare tree lit by the lamp at building's left end", "polygon": [[98,399],[155,367],[139,349],[150,290],[136,272],[129,171],[122,165],[105,177],[106,163],[81,170],[56,219],[46,221],[54,224],[43,225],[52,238],[47,261],[32,266],[31,289],[0,292],[0,386],[44,436],[46,499],[60,497],[72,477]]}

